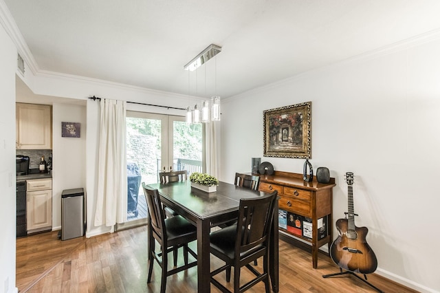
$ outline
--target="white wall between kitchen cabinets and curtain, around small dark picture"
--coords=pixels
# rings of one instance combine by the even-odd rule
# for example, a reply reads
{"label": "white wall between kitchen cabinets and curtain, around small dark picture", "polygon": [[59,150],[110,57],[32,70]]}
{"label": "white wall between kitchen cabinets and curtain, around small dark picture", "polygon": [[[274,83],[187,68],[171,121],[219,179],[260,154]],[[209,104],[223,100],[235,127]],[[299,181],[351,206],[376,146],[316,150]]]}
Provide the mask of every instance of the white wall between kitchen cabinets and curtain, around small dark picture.
{"label": "white wall between kitchen cabinets and curtain, around small dark picture", "polygon": [[[79,122],[80,138],[61,137],[61,122]],[[86,107],[52,105],[52,229],[61,229],[61,193],[65,189],[86,190]],[[87,195],[86,195],[87,196]]]}

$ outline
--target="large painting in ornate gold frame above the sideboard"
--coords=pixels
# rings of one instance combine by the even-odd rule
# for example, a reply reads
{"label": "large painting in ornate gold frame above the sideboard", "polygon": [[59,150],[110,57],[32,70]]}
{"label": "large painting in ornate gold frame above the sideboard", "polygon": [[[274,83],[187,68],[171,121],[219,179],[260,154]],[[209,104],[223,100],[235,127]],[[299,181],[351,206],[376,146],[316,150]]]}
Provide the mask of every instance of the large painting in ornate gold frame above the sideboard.
{"label": "large painting in ornate gold frame above the sideboard", "polygon": [[264,156],[311,159],[311,102],[263,111]]}

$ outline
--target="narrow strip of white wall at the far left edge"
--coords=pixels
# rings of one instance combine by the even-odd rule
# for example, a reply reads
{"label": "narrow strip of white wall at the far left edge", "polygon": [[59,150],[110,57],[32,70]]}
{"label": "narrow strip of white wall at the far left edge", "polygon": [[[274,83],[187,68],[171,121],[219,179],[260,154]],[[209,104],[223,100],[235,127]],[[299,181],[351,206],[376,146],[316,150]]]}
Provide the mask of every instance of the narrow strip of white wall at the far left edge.
{"label": "narrow strip of white wall at the far left edge", "polygon": [[15,69],[17,50],[0,25],[0,292],[15,290]]}

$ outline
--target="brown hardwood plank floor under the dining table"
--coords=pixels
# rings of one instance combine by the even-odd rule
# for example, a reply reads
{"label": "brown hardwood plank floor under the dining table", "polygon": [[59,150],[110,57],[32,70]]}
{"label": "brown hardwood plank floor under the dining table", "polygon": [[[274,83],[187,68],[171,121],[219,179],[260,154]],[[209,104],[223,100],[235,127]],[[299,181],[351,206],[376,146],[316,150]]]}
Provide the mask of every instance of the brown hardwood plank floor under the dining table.
{"label": "brown hardwood plank floor under the dining table", "polygon": [[[19,292],[159,292],[157,263],[152,282],[146,283],[146,234],[146,226],[141,226],[89,239],[61,241],[56,231],[17,239]],[[322,278],[322,274],[339,271],[324,253],[314,270],[309,252],[282,240],[279,248],[281,293],[376,292],[354,276]],[[211,268],[217,265],[221,263],[212,257]],[[243,279],[250,276],[245,269],[242,274]],[[224,281],[224,275],[220,276]],[[376,274],[368,278],[384,292],[415,292]],[[197,292],[197,267],[168,276],[166,292]],[[211,292],[219,291],[211,285]],[[248,292],[264,292],[263,283]]]}

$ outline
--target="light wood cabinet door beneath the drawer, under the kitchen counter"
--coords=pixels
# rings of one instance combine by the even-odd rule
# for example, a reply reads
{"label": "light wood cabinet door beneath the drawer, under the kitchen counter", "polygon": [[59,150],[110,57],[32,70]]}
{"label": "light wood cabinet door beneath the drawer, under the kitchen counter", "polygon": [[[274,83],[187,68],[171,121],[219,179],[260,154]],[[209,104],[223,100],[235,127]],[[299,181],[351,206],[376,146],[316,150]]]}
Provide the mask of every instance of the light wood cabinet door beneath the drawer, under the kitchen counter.
{"label": "light wood cabinet door beneath the drawer, under the kitchen counter", "polygon": [[27,230],[37,232],[36,229],[52,227],[52,190],[30,191],[27,208]]}

